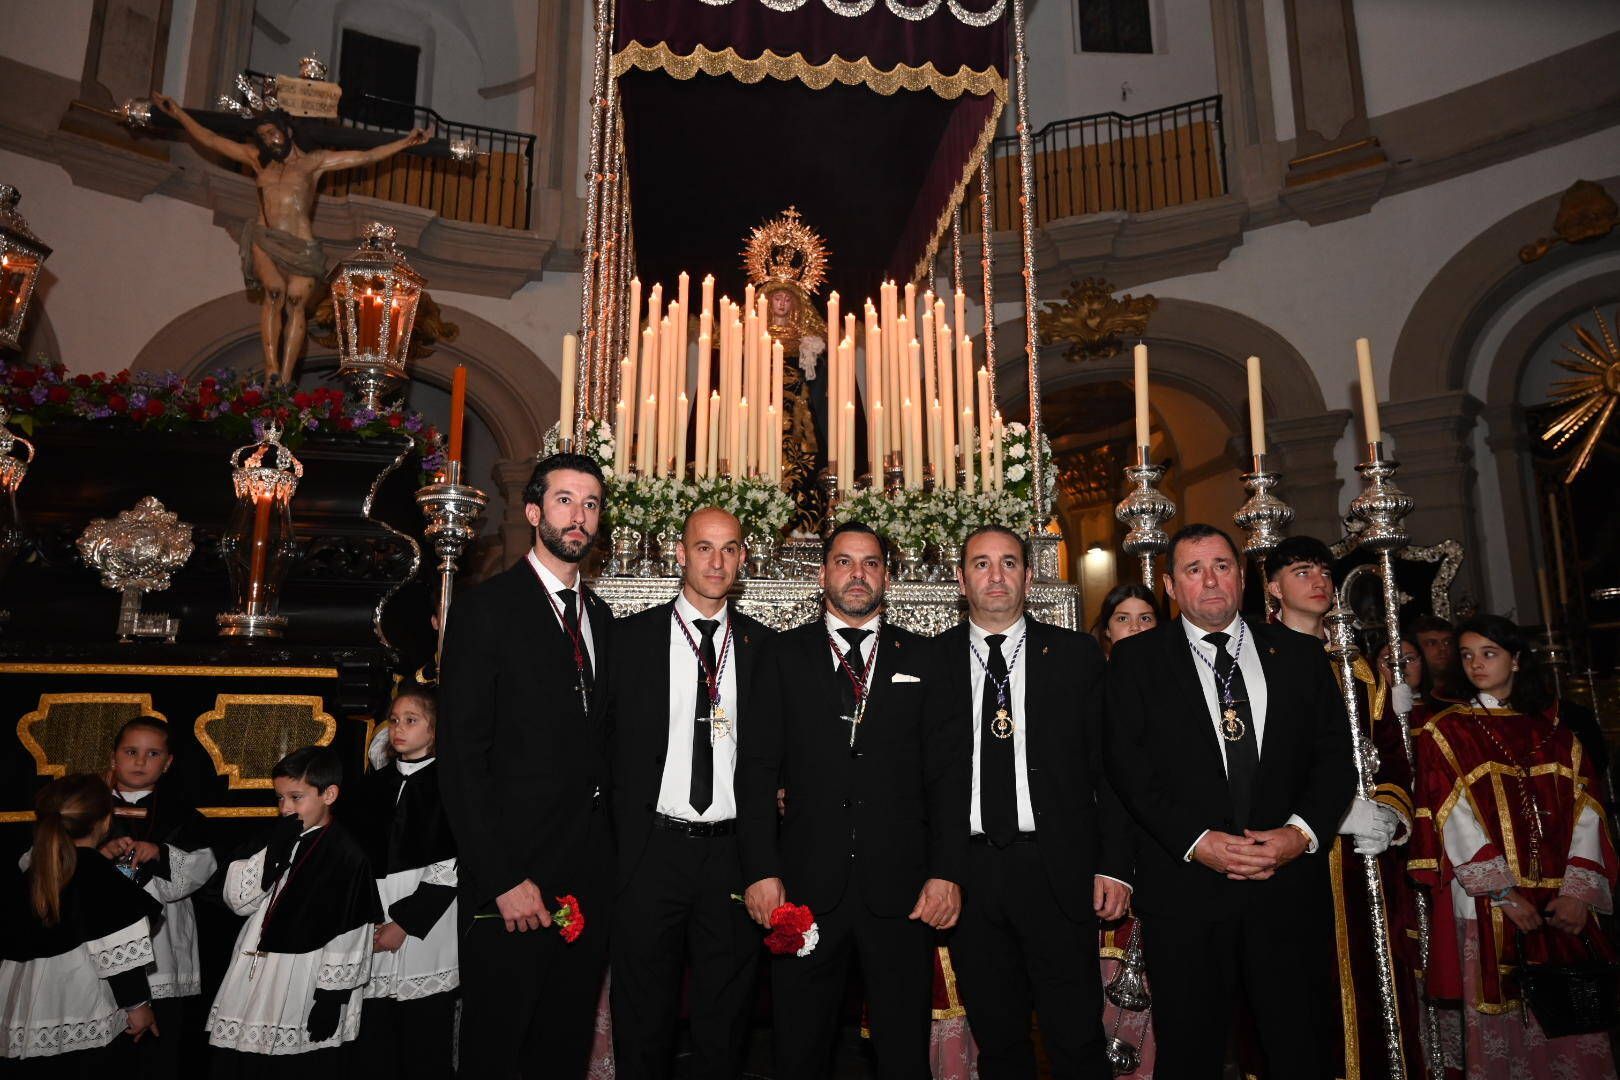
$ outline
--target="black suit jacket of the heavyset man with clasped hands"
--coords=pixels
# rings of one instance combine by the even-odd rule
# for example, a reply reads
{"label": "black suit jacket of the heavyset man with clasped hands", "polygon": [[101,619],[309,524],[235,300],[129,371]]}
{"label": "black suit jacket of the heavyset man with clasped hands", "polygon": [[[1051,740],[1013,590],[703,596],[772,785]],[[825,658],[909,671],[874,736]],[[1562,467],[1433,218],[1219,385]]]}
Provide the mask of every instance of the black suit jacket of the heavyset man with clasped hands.
{"label": "black suit jacket of the heavyset man with clasped hands", "polygon": [[[1265,738],[1249,827],[1299,814],[1317,836],[1268,881],[1231,881],[1183,857],[1205,829],[1233,829],[1220,735],[1179,619],[1123,640],[1108,662],[1108,771],[1142,829],[1132,905],[1220,918],[1251,902],[1299,899],[1325,881],[1327,847],[1356,789],[1349,722],[1322,643],[1286,627],[1249,625],[1265,670]],[[1309,904],[1306,897],[1302,902]]]}

